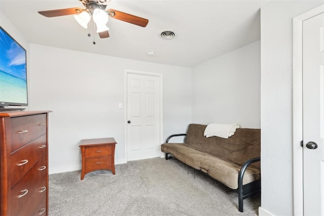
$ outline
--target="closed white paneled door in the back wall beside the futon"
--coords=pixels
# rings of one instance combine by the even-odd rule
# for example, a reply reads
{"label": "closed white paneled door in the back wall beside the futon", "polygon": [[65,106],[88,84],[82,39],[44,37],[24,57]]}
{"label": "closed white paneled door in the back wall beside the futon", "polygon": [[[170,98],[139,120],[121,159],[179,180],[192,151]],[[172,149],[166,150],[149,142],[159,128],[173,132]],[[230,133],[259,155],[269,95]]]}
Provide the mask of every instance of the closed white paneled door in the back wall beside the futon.
{"label": "closed white paneled door in the back wall beside the futon", "polygon": [[127,160],[160,155],[160,78],[127,73]]}

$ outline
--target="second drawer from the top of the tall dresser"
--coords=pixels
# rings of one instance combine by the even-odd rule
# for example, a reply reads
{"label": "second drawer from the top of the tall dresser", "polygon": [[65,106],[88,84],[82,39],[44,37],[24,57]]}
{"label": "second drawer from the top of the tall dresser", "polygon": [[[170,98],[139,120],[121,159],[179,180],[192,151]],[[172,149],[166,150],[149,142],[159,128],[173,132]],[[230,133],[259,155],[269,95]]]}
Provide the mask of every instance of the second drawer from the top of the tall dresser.
{"label": "second drawer from the top of the tall dresser", "polygon": [[28,172],[28,170],[47,152],[46,135],[28,143],[11,154],[11,187]]}

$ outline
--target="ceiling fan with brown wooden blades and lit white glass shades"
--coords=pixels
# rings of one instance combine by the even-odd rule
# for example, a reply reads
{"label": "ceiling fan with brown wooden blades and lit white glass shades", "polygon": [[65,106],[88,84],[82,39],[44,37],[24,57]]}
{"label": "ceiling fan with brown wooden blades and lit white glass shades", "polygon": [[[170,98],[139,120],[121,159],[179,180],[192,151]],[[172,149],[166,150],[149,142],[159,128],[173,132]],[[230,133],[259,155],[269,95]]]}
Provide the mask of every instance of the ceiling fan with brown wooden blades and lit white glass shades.
{"label": "ceiling fan with brown wooden blades and lit white glass shades", "polygon": [[108,22],[108,16],[117,20],[128,22],[134,25],[145,27],[148,23],[147,19],[137,17],[131,14],[127,14],[114,9],[106,10],[108,3],[111,0],[79,0],[86,7],[82,8],[66,8],[51,11],[38,11],[39,14],[45,17],[59,17],[66,15],[74,15],[75,20],[82,25],[84,28],[88,27],[88,23],[92,17],[93,21],[96,23],[97,32],[100,38],[109,37],[108,30],[106,26]]}

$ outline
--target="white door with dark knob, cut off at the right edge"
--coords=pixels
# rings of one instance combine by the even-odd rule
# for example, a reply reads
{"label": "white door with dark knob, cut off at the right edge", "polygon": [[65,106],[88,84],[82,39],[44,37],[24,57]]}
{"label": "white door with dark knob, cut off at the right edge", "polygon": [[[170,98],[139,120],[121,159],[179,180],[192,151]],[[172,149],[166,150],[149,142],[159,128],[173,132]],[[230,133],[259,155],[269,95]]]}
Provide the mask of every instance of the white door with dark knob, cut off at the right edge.
{"label": "white door with dark knob, cut off at the right edge", "polygon": [[304,215],[324,215],[324,15],[303,22]]}

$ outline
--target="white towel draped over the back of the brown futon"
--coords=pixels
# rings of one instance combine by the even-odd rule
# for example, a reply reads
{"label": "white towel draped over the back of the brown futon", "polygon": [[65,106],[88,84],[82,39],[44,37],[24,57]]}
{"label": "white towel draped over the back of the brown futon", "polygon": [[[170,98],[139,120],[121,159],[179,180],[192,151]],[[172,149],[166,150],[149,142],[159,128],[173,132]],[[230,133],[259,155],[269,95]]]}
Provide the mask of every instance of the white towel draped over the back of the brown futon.
{"label": "white towel draped over the back of the brown futon", "polygon": [[222,138],[229,138],[230,136],[234,135],[236,128],[239,128],[239,124],[218,124],[218,123],[211,123],[208,124],[204,136],[208,137],[222,137]]}

